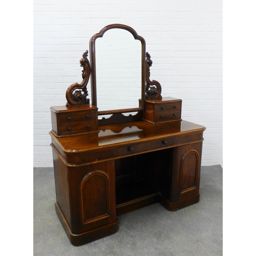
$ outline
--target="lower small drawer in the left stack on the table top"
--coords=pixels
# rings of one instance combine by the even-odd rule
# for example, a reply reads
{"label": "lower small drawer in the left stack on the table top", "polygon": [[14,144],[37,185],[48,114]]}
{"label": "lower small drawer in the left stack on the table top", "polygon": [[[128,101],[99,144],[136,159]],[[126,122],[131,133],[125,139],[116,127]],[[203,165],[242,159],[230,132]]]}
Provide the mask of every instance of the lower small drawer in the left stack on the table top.
{"label": "lower small drawer in the left stack on the table top", "polygon": [[77,122],[60,125],[60,135],[70,135],[95,131],[96,121]]}

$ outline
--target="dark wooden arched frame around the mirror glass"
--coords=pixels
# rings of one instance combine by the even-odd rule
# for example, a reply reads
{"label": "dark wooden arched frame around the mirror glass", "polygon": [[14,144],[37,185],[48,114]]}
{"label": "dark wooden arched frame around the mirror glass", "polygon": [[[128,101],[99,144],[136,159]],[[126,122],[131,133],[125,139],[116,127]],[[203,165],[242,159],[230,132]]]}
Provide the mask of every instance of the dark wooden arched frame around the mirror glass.
{"label": "dark wooden arched frame around the mirror glass", "polygon": [[[108,111],[99,111],[98,115],[108,115],[115,113],[129,113],[129,112],[139,112],[143,111],[145,108],[145,84],[146,84],[146,42],[142,36],[139,36],[137,32],[126,25],[122,24],[111,24],[99,31],[99,33],[93,35],[90,39],[90,62],[91,62],[91,97],[92,97],[92,105],[97,106],[97,81],[96,81],[96,49],[95,49],[95,40],[99,37],[102,37],[104,33],[110,29],[124,29],[129,31],[135,40],[141,41],[141,102],[138,108],[130,108],[130,109],[119,109],[119,110],[108,110]],[[139,101],[139,99],[138,99]]]}

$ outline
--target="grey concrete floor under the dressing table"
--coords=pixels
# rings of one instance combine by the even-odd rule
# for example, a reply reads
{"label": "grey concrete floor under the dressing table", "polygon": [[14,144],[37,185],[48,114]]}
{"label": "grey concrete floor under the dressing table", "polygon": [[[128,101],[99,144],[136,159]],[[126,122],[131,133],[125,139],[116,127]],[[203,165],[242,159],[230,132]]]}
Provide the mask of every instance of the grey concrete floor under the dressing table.
{"label": "grey concrete floor under the dressing table", "polygon": [[73,246],[56,215],[53,168],[34,168],[34,255],[222,255],[222,167],[202,166],[200,202],[175,212],[159,203],[118,216],[119,231]]}

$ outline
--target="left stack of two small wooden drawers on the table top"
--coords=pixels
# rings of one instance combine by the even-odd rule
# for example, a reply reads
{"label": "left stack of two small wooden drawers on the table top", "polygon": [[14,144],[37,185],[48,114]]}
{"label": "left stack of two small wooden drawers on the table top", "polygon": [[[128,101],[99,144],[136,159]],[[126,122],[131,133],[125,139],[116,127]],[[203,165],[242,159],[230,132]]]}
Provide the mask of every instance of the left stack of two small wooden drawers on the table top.
{"label": "left stack of two small wooden drawers on the table top", "polygon": [[52,107],[52,132],[57,137],[98,132],[97,110],[89,104]]}

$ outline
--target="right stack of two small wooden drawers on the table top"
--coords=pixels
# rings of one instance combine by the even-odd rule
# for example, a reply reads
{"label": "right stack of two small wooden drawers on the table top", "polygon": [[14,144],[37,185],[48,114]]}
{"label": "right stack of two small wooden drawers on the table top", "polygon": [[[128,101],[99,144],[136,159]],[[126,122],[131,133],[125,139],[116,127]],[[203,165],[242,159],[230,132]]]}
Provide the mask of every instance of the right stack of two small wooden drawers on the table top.
{"label": "right stack of two small wooden drawers on the table top", "polygon": [[146,100],[144,120],[151,123],[181,121],[182,100],[166,97],[155,100]]}

